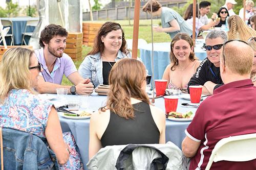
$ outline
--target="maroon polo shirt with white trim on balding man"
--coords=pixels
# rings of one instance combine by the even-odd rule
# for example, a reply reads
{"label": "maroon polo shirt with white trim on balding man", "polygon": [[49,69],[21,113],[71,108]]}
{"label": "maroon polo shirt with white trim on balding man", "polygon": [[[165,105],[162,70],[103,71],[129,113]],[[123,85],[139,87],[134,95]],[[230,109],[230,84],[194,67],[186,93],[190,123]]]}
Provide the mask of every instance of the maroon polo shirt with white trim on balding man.
{"label": "maroon polo shirt with white trim on balding man", "polygon": [[[250,79],[231,82],[200,104],[186,135],[201,142],[189,169],[205,169],[216,143],[225,137],[256,133],[256,87]],[[246,162],[219,161],[211,169],[256,169],[256,159]]]}

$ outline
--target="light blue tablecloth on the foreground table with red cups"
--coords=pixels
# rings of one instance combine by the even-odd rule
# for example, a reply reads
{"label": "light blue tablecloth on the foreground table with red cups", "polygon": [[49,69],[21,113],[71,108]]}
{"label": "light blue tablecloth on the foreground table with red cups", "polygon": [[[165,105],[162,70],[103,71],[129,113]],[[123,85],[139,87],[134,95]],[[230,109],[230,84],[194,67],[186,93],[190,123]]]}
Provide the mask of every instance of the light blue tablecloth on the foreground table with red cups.
{"label": "light blue tablecloth on the foreground table with red cups", "polygon": [[[183,94],[182,94],[183,95]],[[181,96],[182,96],[181,95]],[[68,95],[69,100],[77,100],[79,95]],[[106,101],[106,96],[100,96],[96,93],[91,95],[90,99],[90,110],[96,111],[99,107],[104,106]],[[182,106],[181,103],[190,103],[190,101],[179,99],[178,102],[178,112],[185,113],[187,111],[196,112],[196,108],[190,108]],[[155,106],[164,109],[164,99],[159,98],[155,100]],[[86,164],[89,161],[89,126],[90,119],[68,119],[65,117],[59,116],[62,132],[71,131],[74,135],[76,144],[80,150],[82,161]],[[172,120],[166,119],[166,132],[165,139],[167,141],[172,141],[179,148],[181,148],[181,142],[185,137],[185,129],[190,122],[174,122]]]}

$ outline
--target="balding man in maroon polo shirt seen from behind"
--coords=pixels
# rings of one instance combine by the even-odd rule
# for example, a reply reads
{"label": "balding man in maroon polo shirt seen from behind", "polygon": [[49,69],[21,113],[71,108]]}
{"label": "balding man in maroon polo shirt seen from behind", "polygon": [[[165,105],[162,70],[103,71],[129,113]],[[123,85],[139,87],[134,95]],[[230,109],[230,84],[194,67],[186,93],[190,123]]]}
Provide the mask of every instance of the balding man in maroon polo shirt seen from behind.
{"label": "balding man in maroon polo shirt seen from behind", "polygon": [[[256,87],[250,80],[253,57],[253,50],[246,42],[224,43],[220,60],[224,85],[200,104],[185,130],[182,152],[191,158],[189,169],[205,169],[220,139],[256,133]],[[256,169],[256,159],[214,162],[211,169]]]}

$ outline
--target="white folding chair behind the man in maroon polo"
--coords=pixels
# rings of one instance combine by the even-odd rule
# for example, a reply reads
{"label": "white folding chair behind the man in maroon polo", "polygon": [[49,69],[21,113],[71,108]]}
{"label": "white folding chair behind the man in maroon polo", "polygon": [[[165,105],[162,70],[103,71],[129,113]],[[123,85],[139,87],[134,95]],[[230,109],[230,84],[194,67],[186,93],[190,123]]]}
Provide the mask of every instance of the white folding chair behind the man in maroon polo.
{"label": "white folding chair behind the man in maroon polo", "polygon": [[212,162],[244,162],[256,159],[256,133],[230,136],[216,143],[205,170],[210,169]]}

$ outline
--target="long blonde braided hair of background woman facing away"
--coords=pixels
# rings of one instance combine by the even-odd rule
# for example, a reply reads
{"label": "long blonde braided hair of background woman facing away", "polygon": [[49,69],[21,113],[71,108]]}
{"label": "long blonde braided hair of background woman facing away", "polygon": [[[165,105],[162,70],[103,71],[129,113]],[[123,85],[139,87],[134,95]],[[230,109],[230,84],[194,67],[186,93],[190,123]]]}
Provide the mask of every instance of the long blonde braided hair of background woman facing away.
{"label": "long blonde braided hair of background woman facing away", "polygon": [[250,37],[256,35],[256,31],[249,28],[238,15],[230,16],[227,22],[229,27],[228,40],[239,39],[246,42]]}

